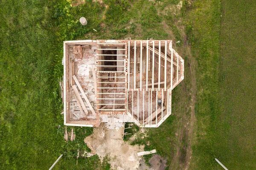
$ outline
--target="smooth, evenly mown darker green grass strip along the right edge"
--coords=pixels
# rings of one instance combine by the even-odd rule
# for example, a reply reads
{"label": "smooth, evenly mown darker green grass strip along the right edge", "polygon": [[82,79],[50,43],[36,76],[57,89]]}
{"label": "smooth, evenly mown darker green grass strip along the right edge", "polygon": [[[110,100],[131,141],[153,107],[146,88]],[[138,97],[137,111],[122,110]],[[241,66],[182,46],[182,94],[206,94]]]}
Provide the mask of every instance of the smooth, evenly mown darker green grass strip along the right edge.
{"label": "smooth, evenly mown darker green grass strip along the right edge", "polygon": [[216,156],[229,169],[256,169],[256,3],[222,0],[220,113]]}

